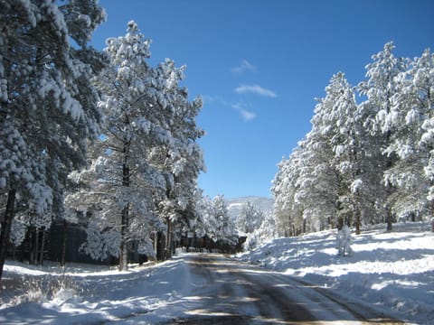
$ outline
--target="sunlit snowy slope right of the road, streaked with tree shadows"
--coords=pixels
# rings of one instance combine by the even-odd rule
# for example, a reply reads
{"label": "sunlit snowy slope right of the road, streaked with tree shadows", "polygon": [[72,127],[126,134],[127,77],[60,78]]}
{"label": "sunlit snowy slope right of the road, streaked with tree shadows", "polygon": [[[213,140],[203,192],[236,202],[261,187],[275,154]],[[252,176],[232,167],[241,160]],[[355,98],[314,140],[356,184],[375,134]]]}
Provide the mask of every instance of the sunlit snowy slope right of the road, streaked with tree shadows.
{"label": "sunlit snowy slope right of the road, streaked with tree shadows", "polygon": [[341,257],[336,231],[278,238],[241,260],[301,277],[401,315],[434,324],[434,233],[429,223],[400,223],[353,235],[353,255]]}

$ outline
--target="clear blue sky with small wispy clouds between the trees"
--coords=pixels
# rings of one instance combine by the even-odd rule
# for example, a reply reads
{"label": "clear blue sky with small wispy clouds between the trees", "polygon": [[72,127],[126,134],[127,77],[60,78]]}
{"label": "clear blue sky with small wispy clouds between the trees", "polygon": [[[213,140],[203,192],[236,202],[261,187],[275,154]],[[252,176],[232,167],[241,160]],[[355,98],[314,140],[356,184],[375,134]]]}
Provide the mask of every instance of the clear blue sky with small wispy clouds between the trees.
{"label": "clear blue sky with small wispy clouds between the trees", "polygon": [[135,20],[152,40],[151,64],[186,65],[184,86],[202,96],[198,124],[204,194],[270,197],[277,164],[310,130],[315,98],[338,71],[354,86],[364,66],[434,51],[431,0],[100,0],[108,21],[100,50]]}

